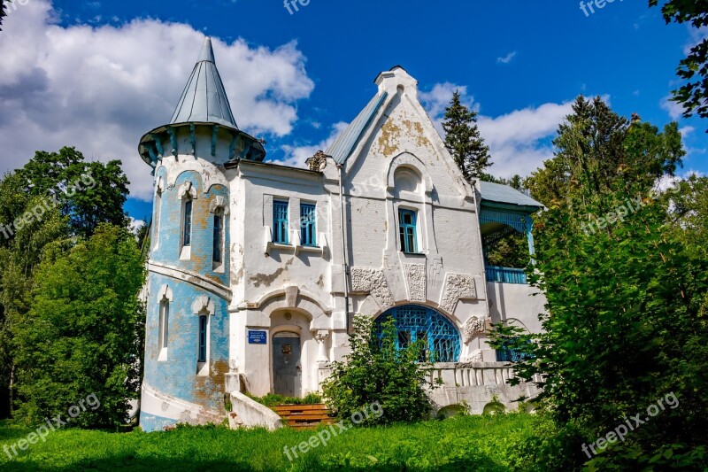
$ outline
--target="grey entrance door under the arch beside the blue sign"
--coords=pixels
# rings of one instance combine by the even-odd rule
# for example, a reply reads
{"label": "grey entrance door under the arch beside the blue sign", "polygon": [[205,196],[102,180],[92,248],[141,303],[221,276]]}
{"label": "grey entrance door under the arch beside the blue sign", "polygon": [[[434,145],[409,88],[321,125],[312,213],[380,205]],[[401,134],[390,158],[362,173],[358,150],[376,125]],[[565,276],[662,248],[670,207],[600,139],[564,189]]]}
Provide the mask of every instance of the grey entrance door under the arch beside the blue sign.
{"label": "grey entrance door under the arch beside the blue sign", "polygon": [[300,336],[282,331],[273,336],[273,393],[297,397],[302,383]]}

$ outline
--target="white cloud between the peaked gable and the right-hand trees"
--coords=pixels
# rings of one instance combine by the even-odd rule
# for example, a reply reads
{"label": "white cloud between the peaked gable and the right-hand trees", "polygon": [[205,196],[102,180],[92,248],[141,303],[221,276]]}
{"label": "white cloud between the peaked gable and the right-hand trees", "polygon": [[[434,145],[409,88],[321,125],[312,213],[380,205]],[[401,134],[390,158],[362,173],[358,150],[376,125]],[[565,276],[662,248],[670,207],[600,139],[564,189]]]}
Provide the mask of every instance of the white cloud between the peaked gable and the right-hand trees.
{"label": "white cloud between the peaked gable and the right-hand trees", "polygon": [[[421,103],[441,136],[445,135],[442,127],[445,106],[450,103],[455,89],[459,89],[463,104],[472,106],[475,111],[480,110],[480,105],[467,95],[466,87],[450,82],[435,84],[430,92],[419,93]],[[609,97],[603,98],[609,101]],[[553,157],[550,138],[573,111],[572,106],[573,101],[567,101],[530,106],[497,117],[479,115],[480,134],[489,145],[494,162],[491,173],[501,177],[528,175],[541,166],[544,160]]]}

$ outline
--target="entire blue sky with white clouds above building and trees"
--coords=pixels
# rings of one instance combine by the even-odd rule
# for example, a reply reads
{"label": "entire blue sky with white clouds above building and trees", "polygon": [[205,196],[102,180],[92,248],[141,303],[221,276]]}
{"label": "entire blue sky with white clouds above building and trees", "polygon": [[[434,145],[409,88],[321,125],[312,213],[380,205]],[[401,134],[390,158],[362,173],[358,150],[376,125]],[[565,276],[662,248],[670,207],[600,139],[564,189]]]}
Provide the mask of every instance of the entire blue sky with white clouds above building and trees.
{"label": "entire blue sky with white clouds above building and trees", "polygon": [[463,90],[480,112],[492,174],[528,174],[550,157],[580,94],[658,126],[678,119],[689,151],[682,172],[708,173],[708,121],[681,119],[666,103],[700,34],[666,26],[643,0],[589,16],[573,1],[310,0],[293,14],[274,0],[23,3],[0,33],[0,109],[9,111],[0,149],[13,151],[0,170],[63,144],[122,159],[137,219],[150,214],[137,141],[169,120],[201,35],[215,39],[237,122],[266,138],[269,159],[290,165],[326,146],[373,96],[374,77],[401,65],[435,121]]}

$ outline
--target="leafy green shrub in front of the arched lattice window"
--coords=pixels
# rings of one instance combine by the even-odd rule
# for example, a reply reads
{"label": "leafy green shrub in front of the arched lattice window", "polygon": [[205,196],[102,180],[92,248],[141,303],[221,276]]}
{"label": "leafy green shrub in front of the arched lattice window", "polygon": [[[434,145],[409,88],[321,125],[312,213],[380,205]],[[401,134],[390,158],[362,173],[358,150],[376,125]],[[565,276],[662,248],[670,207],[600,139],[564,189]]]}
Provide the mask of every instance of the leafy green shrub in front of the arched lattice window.
{"label": "leafy green shrub in front of the arched lattice window", "polygon": [[351,353],[345,362],[332,363],[332,375],[323,385],[327,406],[340,419],[365,411],[379,402],[381,417],[370,415],[362,425],[417,422],[430,414],[429,382],[425,365],[419,364],[422,345],[397,350],[394,321],[384,322],[377,334],[369,317],[354,319]]}

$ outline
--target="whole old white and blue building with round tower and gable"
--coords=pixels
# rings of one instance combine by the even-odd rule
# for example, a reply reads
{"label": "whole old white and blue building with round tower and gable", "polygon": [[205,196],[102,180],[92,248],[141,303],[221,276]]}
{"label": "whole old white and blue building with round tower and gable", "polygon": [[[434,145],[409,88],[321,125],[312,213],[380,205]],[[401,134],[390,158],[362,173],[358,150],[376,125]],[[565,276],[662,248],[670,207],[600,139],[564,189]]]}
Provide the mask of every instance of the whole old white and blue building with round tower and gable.
{"label": "whole old white and blue building with round tower and gable", "polygon": [[486,330],[537,331],[545,300],[523,271],[485,267],[484,246],[517,230],[533,247],[542,205],[466,182],[402,67],[375,83],[309,168],[266,163],[206,40],[173,119],[140,143],[155,175],[143,429],[216,421],[231,391],[318,391],[355,314],[394,317],[401,347],[427,341],[438,408],[535,394],[504,384],[512,369]]}

